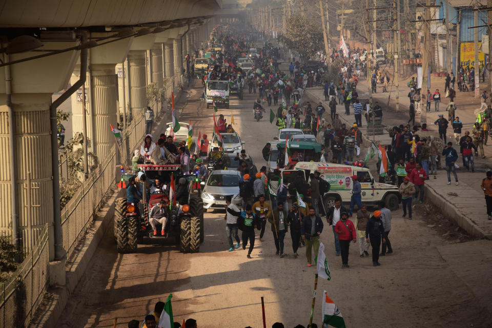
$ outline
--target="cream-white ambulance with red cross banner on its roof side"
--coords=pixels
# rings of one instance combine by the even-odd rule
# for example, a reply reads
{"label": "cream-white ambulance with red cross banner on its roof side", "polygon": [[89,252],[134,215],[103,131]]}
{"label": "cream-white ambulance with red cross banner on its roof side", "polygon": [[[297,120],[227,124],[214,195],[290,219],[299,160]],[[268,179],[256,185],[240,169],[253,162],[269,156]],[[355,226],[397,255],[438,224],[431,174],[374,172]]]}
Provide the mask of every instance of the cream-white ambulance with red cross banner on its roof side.
{"label": "cream-white ambulance with red cross banner on its roof side", "polygon": [[[285,185],[289,185],[297,176],[301,176],[304,181],[309,183],[311,181],[309,175],[316,171],[331,186],[330,191],[322,195],[326,210],[335,205],[336,198],[341,198],[344,205],[350,204],[353,187],[351,176],[353,175],[357,175],[360,182],[363,204],[371,206],[383,201],[389,210],[395,211],[401,202],[398,187],[376,182],[371,171],[364,168],[361,162],[346,162],[346,164],[298,162],[293,170],[282,170],[282,181]],[[309,198],[309,195],[306,198]]]}

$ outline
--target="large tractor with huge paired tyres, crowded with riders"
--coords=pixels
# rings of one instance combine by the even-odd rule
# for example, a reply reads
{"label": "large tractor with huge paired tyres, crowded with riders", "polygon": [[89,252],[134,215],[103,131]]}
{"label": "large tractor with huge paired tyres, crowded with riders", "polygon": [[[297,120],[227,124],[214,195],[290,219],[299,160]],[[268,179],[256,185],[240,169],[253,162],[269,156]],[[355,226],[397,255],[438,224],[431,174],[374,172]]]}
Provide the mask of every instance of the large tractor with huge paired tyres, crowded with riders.
{"label": "large tractor with huge paired tyres, crowded with riders", "polygon": [[[163,192],[154,192],[150,197],[144,192],[142,202],[127,202],[126,192],[124,197],[116,199],[114,211],[114,238],[116,240],[118,253],[129,253],[137,249],[138,243],[142,243],[144,238],[154,240],[174,240],[180,245],[183,253],[199,252],[200,243],[204,239],[203,222],[203,202],[199,189],[200,184],[196,183],[195,175],[183,176],[179,171],[179,165],[138,165],[141,172],[142,190],[147,191],[148,183],[153,179],[159,178],[163,182]],[[128,180],[129,174],[122,172],[122,181]],[[162,227],[156,229],[157,235],[153,234],[149,223],[149,214],[153,206],[159,203],[162,198],[168,198],[172,181],[185,177],[188,201],[183,204],[173,204],[170,199],[168,209],[168,220],[166,224],[166,234],[162,236]],[[152,183],[152,182],[151,182]],[[121,186],[121,185],[120,185]],[[173,197],[174,198],[174,197]]]}

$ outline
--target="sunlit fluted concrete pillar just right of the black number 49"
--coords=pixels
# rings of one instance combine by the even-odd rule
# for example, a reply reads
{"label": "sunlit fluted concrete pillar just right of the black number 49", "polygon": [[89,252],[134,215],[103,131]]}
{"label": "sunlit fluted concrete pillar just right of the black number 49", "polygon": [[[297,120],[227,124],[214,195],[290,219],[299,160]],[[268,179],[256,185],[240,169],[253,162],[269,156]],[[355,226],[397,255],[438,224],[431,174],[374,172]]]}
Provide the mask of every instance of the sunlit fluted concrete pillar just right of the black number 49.
{"label": "sunlit fluted concrete pillar just right of the black number 49", "polygon": [[133,119],[144,115],[147,107],[147,84],[145,74],[145,51],[130,50],[128,54],[130,66],[130,111]]}

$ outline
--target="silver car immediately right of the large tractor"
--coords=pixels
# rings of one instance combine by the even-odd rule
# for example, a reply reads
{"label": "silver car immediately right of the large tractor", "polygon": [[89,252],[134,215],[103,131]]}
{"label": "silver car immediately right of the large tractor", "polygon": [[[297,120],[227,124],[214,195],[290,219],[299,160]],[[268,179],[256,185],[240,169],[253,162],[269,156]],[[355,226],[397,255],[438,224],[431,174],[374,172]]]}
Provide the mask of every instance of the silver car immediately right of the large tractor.
{"label": "silver car immediately right of the large tractor", "polygon": [[226,196],[232,196],[232,203],[242,207],[242,198],[239,196],[239,171],[216,170],[210,172],[207,183],[201,192],[203,209],[224,209]]}

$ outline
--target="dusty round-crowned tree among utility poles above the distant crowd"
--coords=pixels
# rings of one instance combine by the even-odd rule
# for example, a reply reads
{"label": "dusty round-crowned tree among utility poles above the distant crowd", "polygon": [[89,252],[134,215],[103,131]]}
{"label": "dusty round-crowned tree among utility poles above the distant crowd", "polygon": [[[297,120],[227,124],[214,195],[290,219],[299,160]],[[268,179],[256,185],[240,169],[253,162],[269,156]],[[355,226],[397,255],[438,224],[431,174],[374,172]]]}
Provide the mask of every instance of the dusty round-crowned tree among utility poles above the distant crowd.
{"label": "dusty round-crowned tree among utility poles above the distant crowd", "polygon": [[310,56],[324,49],[322,26],[317,19],[293,15],[287,20],[281,42],[287,48],[297,51],[301,60],[307,61]]}

